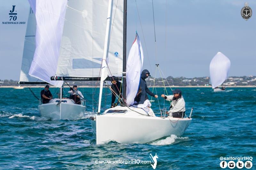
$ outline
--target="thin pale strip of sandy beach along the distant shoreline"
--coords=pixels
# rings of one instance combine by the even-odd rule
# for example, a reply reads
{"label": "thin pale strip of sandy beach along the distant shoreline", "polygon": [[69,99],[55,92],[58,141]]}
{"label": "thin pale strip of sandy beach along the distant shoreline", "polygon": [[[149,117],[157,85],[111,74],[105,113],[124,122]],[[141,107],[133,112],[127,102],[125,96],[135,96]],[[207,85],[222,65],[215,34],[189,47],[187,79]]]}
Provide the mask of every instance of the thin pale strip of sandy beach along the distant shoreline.
{"label": "thin pale strip of sandy beach along the distant shoreline", "polygon": [[[14,88],[14,87],[18,87],[18,86],[0,86],[0,88]],[[27,88],[27,86],[21,86],[24,88]],[[28,86],[29,87],[29,86]],[[56,88],[54,86],[51,86],[51,88]],[[92,88],[93,86],[78,86],[78,88]],[[169,86],[165,86],[166,88],[168,88]],[[171,88],[212,88],[212,86],[170,86]],[[246,87],[246,88],[256,88],[256,86],[227,86],[226,88],[237,88],[237,87]],[[30,88],[44,88],[44,86],[30,86]],[[69,86],[64,86],[64,88],[69,88]],[[100,86],[97,86],[97,88],[100,88]],[[105,88],[105,87],[104,87]],[[149,88],[152,88],[149,87]],[[164,86],[156,86],[155,88],[164,88]]]}

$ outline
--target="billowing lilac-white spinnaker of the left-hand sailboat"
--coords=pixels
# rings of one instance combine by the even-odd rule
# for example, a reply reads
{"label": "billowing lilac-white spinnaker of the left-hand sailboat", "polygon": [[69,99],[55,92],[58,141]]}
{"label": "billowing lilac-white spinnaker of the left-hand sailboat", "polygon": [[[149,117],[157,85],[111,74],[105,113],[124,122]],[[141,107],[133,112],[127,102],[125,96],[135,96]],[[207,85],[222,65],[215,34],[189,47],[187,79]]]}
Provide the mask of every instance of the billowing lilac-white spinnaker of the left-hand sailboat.
{"label": "billowing lilac-white spinnaker of the left-hand sailboat", "polygon": [[56,74],[66,6],[67,0],[36,0],[36,50],[29,75],[57,87],[63,81],[50,77]]}

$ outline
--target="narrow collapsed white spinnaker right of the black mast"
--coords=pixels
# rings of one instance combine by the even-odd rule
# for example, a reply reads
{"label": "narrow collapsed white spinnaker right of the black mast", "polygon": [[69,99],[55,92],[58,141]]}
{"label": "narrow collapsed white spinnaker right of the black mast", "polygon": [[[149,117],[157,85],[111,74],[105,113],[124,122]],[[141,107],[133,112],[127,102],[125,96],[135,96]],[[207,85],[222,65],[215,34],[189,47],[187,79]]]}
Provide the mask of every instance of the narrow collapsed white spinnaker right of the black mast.
{"label": "narrow collapsed white spinnaker right of the black mast", "polygon": [[139,85],[140,73],[143,66],[143,50],[139,35],[136,33],[135,41],[129,52],[126,64],[126,104],[129,106],[134,103]]}

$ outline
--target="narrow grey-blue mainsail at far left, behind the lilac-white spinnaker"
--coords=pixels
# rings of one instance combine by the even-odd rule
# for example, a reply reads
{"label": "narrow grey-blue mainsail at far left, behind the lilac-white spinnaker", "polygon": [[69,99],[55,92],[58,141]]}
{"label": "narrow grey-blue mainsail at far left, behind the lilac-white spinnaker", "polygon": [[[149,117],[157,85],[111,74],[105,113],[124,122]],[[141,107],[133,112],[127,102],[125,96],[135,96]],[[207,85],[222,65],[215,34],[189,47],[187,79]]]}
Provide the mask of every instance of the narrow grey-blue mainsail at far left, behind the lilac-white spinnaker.
{"label": "narrow grey-blue mainsail at far left, behind the lilac-white spinnaker", "polygon": [[20,81],[38,81],[28,74],[36,50],[36,16],[32,8],[29,9],[28,24],[24,41]]}

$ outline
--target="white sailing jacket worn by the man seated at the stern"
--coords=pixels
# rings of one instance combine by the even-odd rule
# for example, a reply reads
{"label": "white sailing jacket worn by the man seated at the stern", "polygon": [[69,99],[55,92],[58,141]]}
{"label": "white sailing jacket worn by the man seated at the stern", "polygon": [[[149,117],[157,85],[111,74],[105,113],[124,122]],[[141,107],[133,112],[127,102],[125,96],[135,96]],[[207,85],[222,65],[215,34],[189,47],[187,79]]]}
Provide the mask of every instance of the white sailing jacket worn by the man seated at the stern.
{"label": "white sailing jacket worn by the man seated at the stern", "polygon": [[165,97],[167,97],[165,100],[172,101],[172,103],[170,105],[170,107],[172,106],[172,108],[168,111],[168,113],[186,111],[185,101],[184,101],[183,96],[181,96],[178,100],[172,100],[173,95],[165,96]]}

